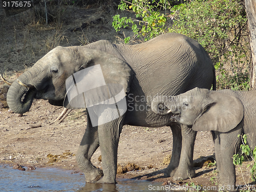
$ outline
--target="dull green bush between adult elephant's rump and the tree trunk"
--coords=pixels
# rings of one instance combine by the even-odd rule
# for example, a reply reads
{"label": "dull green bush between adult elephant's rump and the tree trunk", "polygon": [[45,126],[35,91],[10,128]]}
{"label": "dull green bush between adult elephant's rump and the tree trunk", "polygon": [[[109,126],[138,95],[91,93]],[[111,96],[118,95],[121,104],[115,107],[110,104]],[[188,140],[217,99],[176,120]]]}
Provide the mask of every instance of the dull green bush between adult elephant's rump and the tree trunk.
{"label": "dull green bush between adult elephant's rump and the tree trunk", "polygon": [[250,48],[245,6],[240,1],[193,1],[173,7],[178,32],[197,39],[217,70],[217,88],[248,90]]}

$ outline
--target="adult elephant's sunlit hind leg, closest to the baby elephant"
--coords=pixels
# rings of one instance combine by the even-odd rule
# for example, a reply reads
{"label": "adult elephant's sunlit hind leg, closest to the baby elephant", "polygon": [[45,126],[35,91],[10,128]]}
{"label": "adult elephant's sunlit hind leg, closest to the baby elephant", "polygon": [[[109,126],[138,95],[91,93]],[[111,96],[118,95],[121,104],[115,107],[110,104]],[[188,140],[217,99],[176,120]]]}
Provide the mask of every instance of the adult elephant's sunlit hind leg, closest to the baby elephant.
{"label": "adult elephant's sunlit hind leg, closest to the baby elephant", "polygon": [[196,176],[193,166],[193,153],[197,132],[187,125],[181,125],[182,147],[179,166],[174,174],[174,180],[184,180]]}

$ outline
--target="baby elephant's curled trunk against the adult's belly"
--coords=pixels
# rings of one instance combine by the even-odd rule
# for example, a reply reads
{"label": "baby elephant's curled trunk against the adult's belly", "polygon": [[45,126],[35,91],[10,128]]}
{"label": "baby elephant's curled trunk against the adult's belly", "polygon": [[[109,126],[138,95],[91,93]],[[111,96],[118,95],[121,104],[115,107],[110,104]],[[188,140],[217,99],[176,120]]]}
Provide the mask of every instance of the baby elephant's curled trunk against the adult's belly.
{"label": "baby elephant's curled trunk against the adult's belly", "polygon": [[159,115],[167,115],[173,113],[174,105],[178,101],[177,96],[157,96],[153,99],[151,103],[152,111]]}

